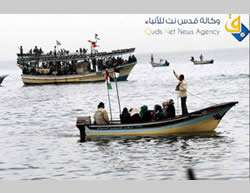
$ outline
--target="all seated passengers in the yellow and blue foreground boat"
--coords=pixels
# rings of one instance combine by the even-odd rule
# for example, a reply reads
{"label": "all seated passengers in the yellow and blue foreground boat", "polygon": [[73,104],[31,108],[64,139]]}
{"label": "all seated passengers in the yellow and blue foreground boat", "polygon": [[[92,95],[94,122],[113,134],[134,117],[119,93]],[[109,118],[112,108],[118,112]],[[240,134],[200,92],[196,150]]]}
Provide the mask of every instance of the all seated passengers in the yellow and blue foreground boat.
{"label": "all seated passengers in the yellow and blue foreground boat", "polygon": [[[163,119],[175,118],[175,107],[173,99],[170,99],[161,105],[155,105],[154,110],[149,110],[147,105],[143,105],[140,108],[140,112],[137,108],[127,107],[123,108],[122,114],[120,115],[121,124],[132,124],[132,123],[145,123],[150,121],[159,121]],[[105,105],[100,102],[97,106],[97,110],[94,115],[95,124],[109,124],[108,113],[105,110]]]}

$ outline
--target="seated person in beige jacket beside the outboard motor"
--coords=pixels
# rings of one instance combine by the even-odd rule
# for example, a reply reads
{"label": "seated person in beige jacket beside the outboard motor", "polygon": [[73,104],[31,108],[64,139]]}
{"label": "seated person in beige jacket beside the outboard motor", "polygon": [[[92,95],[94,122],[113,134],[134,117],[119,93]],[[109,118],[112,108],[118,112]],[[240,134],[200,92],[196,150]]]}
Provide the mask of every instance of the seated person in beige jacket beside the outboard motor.
{"label": "seated person in beige jacket beside the outboard motor", "polygon": [[107,111],[104,109],[104,103],[100,102],[94,115],[94,120],[97,125],[109,124],[109,117]]}

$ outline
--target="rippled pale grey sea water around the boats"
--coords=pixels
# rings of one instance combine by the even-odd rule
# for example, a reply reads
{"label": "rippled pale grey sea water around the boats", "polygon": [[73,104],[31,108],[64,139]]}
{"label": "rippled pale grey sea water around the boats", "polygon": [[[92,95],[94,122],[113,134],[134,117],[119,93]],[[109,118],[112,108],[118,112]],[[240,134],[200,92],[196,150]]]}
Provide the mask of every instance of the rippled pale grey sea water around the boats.
{"label": "rippled pale grey sea water around the boats", "polygon": [[[190,57],[214,59],[193,65]],[[249,180],[249,49],[154,53],[169,67],[153,68],[150,53],[135,53],[138,64],[119,82],[123,107],[140,108],[174,99],[173,70],[188,83],[189,112],[238,101],[214,133],[164,137],[91,139],[79,142],[77,116],[92,116],[99,102],[109,112],[104,83],[24,86],[16,58],[0,61],[1,180]],[[119,117],[115,84],[112,117]]]}

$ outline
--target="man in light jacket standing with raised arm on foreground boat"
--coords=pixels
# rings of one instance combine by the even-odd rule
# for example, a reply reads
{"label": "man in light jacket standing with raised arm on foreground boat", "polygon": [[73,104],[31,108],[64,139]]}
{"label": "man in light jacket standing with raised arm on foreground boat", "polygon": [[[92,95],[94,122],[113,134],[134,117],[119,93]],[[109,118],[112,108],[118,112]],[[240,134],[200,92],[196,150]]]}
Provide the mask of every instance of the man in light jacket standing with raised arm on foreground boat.
{"label": "man in light jacket standing with raised arm on foreground boat", "polygon": [[179,84],[176,86],[176,91],[179,91],[179,97],[181,98],[181,110],[182,115],[187,115],[187,82],[184,80],[184,75],[181,74],[180,76],[175,73],[173,70],[175,77],[180,81]]}

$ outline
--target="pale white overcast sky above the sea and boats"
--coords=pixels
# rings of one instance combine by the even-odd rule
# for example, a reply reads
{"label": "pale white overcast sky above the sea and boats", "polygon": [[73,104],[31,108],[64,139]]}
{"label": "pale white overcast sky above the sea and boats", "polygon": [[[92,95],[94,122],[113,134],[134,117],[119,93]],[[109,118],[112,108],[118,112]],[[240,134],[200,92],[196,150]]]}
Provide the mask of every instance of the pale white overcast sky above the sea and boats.
{"label": "pale white overcast sky above the sea and boats", "polygon": [[[152,24],[159,21],[157,16],[176,22]],[[249,15],[233,14],[231,18],[238,16],[249,29]],[[146,24],[149,19],[151,23]],[[15,60],[20,45],[24,52],[36,45],[49,52],[56,40],[70,51],[89,49],[88,40],[94,41],[95,33],[100,38],[99,51],[131,47],[136,53],[249,48],[249,35],[240,42],[226,31],[226,22],[230,27],[232,19],[228,14],[1,14],[0,60]],[[209,34],[201,35],[202,30]]]}

